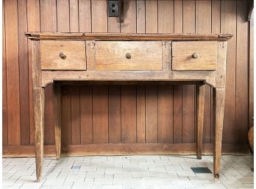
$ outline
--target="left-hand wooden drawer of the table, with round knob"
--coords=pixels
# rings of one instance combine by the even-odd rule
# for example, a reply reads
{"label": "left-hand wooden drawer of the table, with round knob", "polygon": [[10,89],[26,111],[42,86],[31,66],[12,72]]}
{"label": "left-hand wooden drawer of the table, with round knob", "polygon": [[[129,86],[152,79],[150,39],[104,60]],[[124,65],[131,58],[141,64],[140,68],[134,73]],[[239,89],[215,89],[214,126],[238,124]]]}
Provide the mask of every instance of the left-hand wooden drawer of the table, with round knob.
{"label": "left-hand wooden drawer of the table, with round knob", "polygon": [[41,40],[42,70],[86,70],[85,41]]}

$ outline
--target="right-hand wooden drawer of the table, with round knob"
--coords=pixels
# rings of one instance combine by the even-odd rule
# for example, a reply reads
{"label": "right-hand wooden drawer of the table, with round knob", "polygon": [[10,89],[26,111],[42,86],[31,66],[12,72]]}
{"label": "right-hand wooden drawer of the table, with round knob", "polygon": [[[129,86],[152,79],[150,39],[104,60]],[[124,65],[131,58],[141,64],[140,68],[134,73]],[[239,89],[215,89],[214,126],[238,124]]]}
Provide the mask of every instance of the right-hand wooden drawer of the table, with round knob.
{"label": "right-hand wooden drawer of the table, with round knob", "polygon": [[176,71],[216,70],[216,41],[172,43],[172,69]]}

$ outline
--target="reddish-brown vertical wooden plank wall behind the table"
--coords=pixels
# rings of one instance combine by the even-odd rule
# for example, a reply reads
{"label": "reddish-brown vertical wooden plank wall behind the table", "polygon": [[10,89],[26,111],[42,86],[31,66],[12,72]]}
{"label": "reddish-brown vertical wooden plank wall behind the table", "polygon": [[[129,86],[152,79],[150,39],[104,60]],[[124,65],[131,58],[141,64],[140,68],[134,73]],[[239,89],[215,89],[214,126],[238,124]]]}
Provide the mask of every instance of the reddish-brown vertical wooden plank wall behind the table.
{"label": "reddish-brown vertical wooden plank wall behind the table", "polygon": [[[247,1],[137,0],[123,23],[106,0],[5,0],[3,8],[3,146],[32,146],[32,63],[26,31],[232,33],[227,54],[223,142],[247,150],[249,24]],[[52,85],[46,88],[45,144],[54,144]],[[195,143],[193,85],[66,85],[62,143]],[[206,90],[204,143],[213,143],[212,90]],[[182,147],[181,149],[182,150]]]}

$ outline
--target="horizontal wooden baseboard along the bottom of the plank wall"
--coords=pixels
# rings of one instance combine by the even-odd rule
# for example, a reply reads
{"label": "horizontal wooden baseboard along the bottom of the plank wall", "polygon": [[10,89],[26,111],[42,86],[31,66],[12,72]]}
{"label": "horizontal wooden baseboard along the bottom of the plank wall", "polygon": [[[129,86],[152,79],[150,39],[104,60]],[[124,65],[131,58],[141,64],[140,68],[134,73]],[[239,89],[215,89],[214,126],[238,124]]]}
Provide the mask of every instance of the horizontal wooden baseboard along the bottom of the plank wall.
{"label": "horizontal wooden baseboard along the bottom of the plank wall", "polygon": [[[248,144],[223,143],[222,154],[249,154]],[[196,154],[196,143],[106,143],[63,145],[62,156]],[[205,143],[202,154],[213,154],[213,144]],[[44,156],[54,157],[55,146],[44,146]],[[35,157],[35,146],[3,146],[3,157]]]}

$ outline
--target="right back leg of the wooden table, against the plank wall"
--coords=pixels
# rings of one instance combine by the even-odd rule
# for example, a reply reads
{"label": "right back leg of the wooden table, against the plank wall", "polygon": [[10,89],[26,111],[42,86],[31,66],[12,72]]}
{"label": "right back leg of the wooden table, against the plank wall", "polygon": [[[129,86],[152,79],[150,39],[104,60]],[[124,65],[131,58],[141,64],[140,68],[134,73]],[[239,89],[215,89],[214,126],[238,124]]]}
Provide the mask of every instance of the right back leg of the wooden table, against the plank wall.
{"label": "right back leg of the wooden table, against the plank wall", "polygon": [[196,125],[197,125],[197,159],[202,159],[202,135],[204,125],[205,111],[205,85],[196,85],[196,93],[198,93],[196,105]]}

